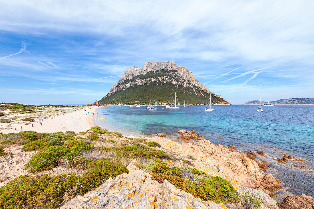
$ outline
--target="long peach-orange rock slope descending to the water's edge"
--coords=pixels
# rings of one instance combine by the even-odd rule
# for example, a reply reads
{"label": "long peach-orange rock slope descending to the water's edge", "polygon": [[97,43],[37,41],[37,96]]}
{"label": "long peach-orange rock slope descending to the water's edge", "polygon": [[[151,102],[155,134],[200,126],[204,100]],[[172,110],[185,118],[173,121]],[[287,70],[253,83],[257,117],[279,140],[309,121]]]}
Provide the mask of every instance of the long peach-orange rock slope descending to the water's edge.
{"label": "long peach-orange rock slope descending to the water's edge", "polygon": [[[265,174],[254,159],[247,158],[247,154],[238,151],[235,146],[215,145],[205,139],[179,143],[163,137],[153,137],[150,141],[157,142],[180,156],[193,156],[196,160],[192,163],[196,169],[211,176],[220,176],[235,187],[250,187],[270,196],[273,196],[272,191],[282,189],[279,180],[272,174]],[[215,165],[223,169],[217,169]]]}

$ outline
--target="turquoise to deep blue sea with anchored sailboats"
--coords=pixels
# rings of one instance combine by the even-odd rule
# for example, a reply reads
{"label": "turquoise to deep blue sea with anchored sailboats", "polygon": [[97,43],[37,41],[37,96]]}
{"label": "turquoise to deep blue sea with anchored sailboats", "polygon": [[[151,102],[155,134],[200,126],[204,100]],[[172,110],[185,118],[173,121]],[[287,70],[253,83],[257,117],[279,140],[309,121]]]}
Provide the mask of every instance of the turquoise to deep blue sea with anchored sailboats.
{"label": "turquoise to deep blue sea with anchored sailboats", "polygon": [[[155,111],[146,106],[100,107],[94,122],[129,136],[153,137],[162,132],[178,142],[178,130],[194,130],[214,144],[234,145],[244,153],[266,152],[266,157],[257,157],[271,167],[264,172],[272,173],[284,187],[274,192],[276,201],[290,195],[314,197],[314,105],[263,106],[263,112],[256,111],[259,105],[214,105],[214,111],[204,111],[205,107],[157,106]],[[101,116],[106,119],[98,120]],[[306,162],[278,163],[276,158],[284,153]],[[307,169],[301,169],[301,165]]]}

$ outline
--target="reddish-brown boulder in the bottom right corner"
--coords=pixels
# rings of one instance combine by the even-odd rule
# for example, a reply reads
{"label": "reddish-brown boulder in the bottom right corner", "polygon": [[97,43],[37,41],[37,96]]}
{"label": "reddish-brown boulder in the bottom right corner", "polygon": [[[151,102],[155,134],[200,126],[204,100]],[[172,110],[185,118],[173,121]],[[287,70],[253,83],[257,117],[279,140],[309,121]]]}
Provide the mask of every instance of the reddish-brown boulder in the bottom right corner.
{"label": "reddish-brown boulder in the bottom right corner", "polygon": [[282,203],[279,203],[279,207],[282,209],[313,209],[314,199],[306,195],[288,196]]}

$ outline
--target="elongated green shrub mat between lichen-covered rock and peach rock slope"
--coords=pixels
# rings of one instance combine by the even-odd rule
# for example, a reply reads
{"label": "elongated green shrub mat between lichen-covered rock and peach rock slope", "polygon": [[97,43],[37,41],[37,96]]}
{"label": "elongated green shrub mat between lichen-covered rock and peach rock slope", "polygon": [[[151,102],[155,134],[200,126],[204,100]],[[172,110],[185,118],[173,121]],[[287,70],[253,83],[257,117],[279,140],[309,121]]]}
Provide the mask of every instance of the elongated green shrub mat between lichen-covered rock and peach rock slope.
{"label": "elongated green shrub mat between lichen-covered rock and peach rock slope", "polygon": [[152,176],[159,182],[168,180],[177,188],[191,193],[203,201],[215,203],[235,201],[236,190],[225,179],[219,176],[208,176],[202,171],[191,168],[173,168],[164,164],[155,164]]}

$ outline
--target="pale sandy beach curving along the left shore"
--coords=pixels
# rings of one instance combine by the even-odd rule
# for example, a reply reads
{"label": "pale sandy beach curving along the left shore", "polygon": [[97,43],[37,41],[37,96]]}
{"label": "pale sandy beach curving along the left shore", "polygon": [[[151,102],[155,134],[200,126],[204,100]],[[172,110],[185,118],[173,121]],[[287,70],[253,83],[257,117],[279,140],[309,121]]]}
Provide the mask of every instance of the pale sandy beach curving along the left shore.
{"label": "pale sandy beach curving along the left shore", "polygon": [[[86,110],[86,111],[84,111]],[[96,108],[89,109],[84,108],[81,110],[65,113],[64,115],[56,116],[55,118],[51,119],[51,117],[47,119],[43,119],[40,123],[31,122],[30,125],[23,124],[13,124],[11,129],[4,129],[0,132],[4,134],[10,132],[19,132],[19,131],[36,131],[40,133],[52,133],[58,131],[74,131],[76,133],[80,131],[86,131],[93,125],[92,119],[93,114],[85,115],[87,112],[95,112]],[[53,117],[53,116],[52,116]],[[32,127],[33,124],[33,127]],[[22,129],[21,129],[22,126]],[[15,131],[16,128],[16,131]]]}

